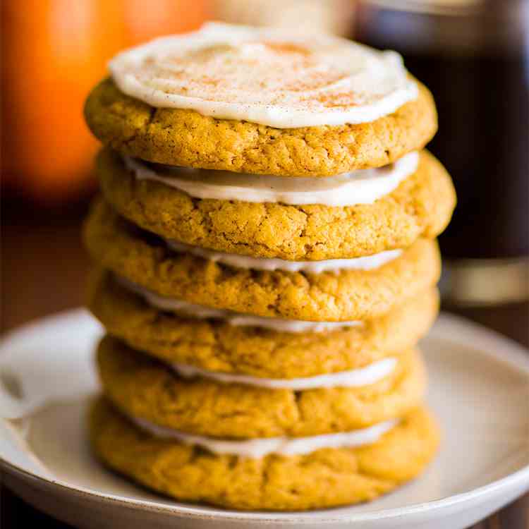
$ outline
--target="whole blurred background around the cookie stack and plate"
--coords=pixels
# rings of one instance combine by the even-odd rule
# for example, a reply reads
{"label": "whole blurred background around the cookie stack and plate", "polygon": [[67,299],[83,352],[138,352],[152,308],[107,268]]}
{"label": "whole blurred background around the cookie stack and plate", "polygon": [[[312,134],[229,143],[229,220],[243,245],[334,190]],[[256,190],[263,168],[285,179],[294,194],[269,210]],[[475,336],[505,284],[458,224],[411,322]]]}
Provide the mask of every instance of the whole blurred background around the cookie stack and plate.
{"label": "whole blurred background around the cookie stack and plate", "polygon": [[[108,59],[205,20],[303,25],[403,54],[434,93],[429,148],[458,191],[444,308],[529,346],[529,0],[1,1],[0,331],[83,303],[97,142],[82,109]],[[0,500],[11,521],[51,523],[5,489]],[[528,505],[480,526],[528,529]]]}

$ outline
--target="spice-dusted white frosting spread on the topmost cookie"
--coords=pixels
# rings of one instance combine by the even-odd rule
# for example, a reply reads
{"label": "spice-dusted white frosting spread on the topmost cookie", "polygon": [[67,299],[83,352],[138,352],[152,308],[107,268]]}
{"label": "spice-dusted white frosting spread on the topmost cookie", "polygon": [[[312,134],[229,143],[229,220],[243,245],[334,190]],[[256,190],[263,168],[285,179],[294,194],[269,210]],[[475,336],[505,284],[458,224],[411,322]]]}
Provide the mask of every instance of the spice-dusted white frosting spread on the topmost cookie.
{"label": "spice-dusted white frosting spread on the topmost cookie", "polygon": [[207,23],[123,51],[109,68],[153,107],[277,128],[374,121],[418,96],[396,52],[292,28]]}

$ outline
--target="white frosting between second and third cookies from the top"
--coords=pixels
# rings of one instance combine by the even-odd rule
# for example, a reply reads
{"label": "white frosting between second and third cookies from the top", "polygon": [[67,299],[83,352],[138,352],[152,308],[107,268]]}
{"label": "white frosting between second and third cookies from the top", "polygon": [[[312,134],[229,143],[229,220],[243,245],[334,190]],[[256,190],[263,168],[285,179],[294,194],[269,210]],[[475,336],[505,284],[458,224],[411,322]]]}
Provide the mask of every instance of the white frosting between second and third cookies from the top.
{"label": "white frosting between second and third cookies from the top", "polygon": [[231,267],[253,269],[253,270],[284,270],[284,272],[308,272],[310,274],[321,274],[322,272],[339,273],[341,270],[372,270],[382,267],[387,262],[393,261],[402,254],[402,250],[387,250],[355,257],[353,259],[327,259],[322,261],[286,261],[284,259],[265,259],[262,257],[249,257],[248,255],[236,255],[214,250],[206,250],[198,246],[167,241],[167,245],[176,252],[185,252],[209,261],[221,262]]}

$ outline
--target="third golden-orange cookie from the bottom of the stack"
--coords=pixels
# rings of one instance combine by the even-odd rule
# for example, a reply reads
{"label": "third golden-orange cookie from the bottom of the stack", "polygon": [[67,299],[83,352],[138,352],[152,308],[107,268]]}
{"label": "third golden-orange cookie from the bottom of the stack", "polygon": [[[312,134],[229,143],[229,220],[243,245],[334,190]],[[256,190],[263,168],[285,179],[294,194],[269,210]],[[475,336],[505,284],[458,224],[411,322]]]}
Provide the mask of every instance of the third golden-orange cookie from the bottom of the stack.
{"label": "third golden-orange cookie from the bottom of the stack", "polygon": [[360,327],[280,332],[152,308],[102,269],[92,272],[88,288],[92,313],[133,348],[170,363],[281,379],[359,369],[413,347],[430,329],[438,306],[433,288]]}

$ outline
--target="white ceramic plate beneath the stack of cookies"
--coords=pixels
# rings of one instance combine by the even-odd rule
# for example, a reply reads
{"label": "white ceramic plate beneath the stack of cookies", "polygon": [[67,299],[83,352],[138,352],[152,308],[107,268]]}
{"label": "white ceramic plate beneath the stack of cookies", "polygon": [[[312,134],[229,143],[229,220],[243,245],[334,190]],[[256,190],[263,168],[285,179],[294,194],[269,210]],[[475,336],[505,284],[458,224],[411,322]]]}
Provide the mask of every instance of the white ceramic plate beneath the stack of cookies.
{"label": "white ceramic plate beneath the stack of cookies", "polygon": [[21,497],[80,528],[463,529],[529,490],[529,354],[442,315],[422,343],[428,401],[444,429],[425,475],[370,504],[301,513],[180,504],[104,470],[85,411],[97,391],[101,329],[84,310],[50,317],[0,344],[0,464]]}

